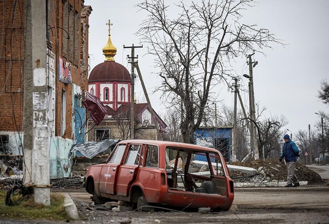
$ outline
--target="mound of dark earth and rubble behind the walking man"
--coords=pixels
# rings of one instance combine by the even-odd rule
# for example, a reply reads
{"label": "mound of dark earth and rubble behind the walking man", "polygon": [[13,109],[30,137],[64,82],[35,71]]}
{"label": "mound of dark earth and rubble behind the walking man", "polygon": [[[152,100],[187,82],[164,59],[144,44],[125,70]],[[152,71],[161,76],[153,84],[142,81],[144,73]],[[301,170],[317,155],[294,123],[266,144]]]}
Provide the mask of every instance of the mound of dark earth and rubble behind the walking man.
{"label": "mound of dark earth and rubble behind the walking man", "polygon": [[[251,162],[232,162],[230,165],[243,166],[254,168],[258,171],[258,174],[242,173],[239,171],[230,171],[230,177],[234,179],[235,182],[257,182],[258,180],[267,181],[286,181],[287,178],[287,168],[284,161],[281,163],[280,177],[279,168],[280,162],[278,159],[272,160],[254,160]],[[264,175],[265,174],[265,175]],[[321,184],[324,181],[321,179],[320,175],[308,167],[296,163],[295,174],[299,181],[308,181],[309,184]]]}

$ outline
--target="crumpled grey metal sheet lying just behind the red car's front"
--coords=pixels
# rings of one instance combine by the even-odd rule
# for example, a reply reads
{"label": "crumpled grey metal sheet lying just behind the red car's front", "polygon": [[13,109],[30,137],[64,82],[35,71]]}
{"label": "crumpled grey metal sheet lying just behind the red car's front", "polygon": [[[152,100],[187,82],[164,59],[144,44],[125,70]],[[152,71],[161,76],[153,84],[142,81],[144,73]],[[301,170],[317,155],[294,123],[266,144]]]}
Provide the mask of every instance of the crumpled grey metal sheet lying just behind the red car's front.
{"label": "crumpled grey metal sheet lying just behind the red car's front", "polygon": [[105,139],[101,142],[82,142],[72,146],[71,153],[78,151],[89,159],[97,154],[106,151],[109,147],[114,146],[120,140]]}

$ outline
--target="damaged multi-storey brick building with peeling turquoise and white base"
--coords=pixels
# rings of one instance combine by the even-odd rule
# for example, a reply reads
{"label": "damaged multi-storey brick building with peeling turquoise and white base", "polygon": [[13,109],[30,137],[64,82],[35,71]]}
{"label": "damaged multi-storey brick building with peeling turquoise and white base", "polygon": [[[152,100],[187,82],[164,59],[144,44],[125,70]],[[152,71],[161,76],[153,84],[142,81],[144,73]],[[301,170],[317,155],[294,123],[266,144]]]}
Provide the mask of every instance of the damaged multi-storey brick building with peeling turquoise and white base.
{"label": "damaged multi-storey brick building with peeling turquoise and white base", "polygon": [[[84,141],[84,128],[80,127],[86,111],[81,96],[88,89],[92,9],[84,5],[84,0],[45,1],[48,119],[52,121],[50,176],[68,176],[70,148],[74,142]],[[24,10],[24,0],[0,2],[0,154],[22,154]]]}

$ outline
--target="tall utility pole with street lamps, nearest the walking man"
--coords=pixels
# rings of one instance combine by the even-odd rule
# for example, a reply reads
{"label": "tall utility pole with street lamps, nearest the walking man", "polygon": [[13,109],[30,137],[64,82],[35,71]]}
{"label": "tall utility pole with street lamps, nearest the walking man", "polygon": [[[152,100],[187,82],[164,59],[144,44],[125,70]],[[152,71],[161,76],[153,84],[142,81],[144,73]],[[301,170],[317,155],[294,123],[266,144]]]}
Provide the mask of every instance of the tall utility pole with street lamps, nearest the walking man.
{"label": "tall utility pole with street lamps, nearest the walking man", "polygon": [[[254,159],[259,159],[259,151],[258,151],[258,146],[257,146],[257,132],[256,132],[256,127],[255,123],[256,122],[256,112],[255,112],[255,95],[254,95],[254,80],[253,80],[253,75],[252,75],[252,69],[257,65],[257,63],[252,62],[251,56],[253,56],[255,53],[248,55],[249,61],[249,103],[250,103],[250,119],[251,119],[251,130],[252,134],[250,133],[250,146],[252,145],[252,151],[254,153]],[[253,65],[253,63],[255,63]],[[252,143],[252,144],[251,144]]]}

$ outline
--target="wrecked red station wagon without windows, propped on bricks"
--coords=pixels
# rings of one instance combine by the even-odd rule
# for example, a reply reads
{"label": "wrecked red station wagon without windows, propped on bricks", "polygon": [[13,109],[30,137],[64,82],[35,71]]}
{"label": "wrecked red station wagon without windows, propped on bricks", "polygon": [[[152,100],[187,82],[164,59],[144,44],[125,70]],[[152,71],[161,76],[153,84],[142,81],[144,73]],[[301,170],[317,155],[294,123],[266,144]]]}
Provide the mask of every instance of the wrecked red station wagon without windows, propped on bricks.
{"label": "wrecked red station wagon without windows, propped on bricks", "polygon": [[[131,145],[141,145],[142,156],[139,157],[138,163],[131,165],[126,164],[128,160],[128,150]],[[113,162],[116,156],[116,149],[121,147],[121,159]],[[147,146],[158,146],[158,167],[146,166],[143,158],[146,158]],[[175,148],[179,151],[188,153],[187,165],[185,165],[185,188],[178,189],[176,186],[169,186],[168,172],[166,169],[165,149]],[[222,154],[212,148],[163,141],[150,140],[125,140],[118,143],[116,149],[111,153],[105,164],[90,166],[87,172],[86,190],[94,189],[97,197],[111,198],[112,200],[123,200],[131,203],[137,203],[136,193],[144,196],[146,202],[174,205],[181,207],[210,207],[212,210],[228,210],[234,199],[233,180],[229,177],[225,159]],[[191,154],[205,153],[209,161],[210,177],[203,177],[189,173],[187,170],[191,164]],[[210,154],[218,156],[218,161],[222,164],[222,175],[216,175],[215,168],[210,161]],[[113,157],[113,158],[112,158]],[[143,161],[142,161],[143,160]],[[177,167],[175,161],[174,170]],[[172,174],[170,171],[169,174]],[[163,175],[165,183],[163,184]],[[169,175],[171,176],[171,175]],[[169,178],[170,179],[170,178]],[[196,191],[196,184],[192,180],[204,182],[213,182],[216,193],[206,191]],[[193,182],[193,183],[191,183]],[[176,183],[175,183],[176,184]],[[93,185],[93,188],[90,186]],[[195,190],[193,190],[195,188]],[[200,188],[200,187],[199,187]],[[139,192],[141,190],[141,192]],[[200,189],[199,189],[200,190]],[[202,189],[201,189],[202,190]]]}

